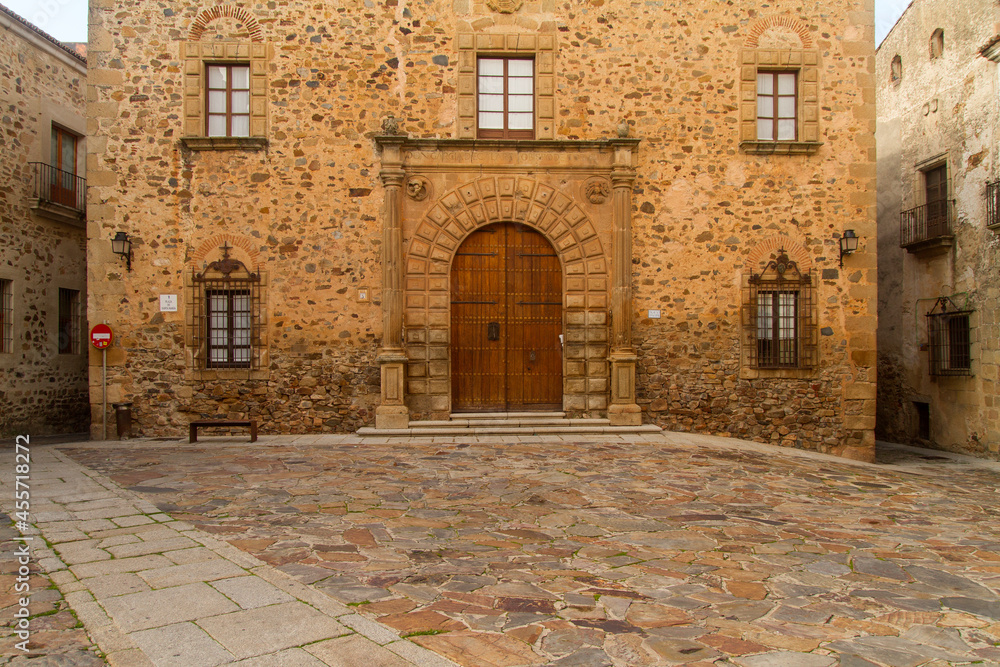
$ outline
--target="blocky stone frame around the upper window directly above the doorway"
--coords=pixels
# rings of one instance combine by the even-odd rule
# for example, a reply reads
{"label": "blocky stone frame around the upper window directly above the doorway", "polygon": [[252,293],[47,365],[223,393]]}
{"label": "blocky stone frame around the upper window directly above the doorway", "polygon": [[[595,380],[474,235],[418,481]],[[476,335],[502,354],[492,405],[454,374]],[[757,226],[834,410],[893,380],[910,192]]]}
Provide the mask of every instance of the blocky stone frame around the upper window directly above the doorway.
{"label": "blocky stone frame around the upper window directly above the doorway", "polygon": [[[461,33],[458,35],[459,139],[478,136],[478,59],[497,56],[535,61],[535,139],[555,139],[555,35]],[[528,140],[519,140],[528,141]]]}

